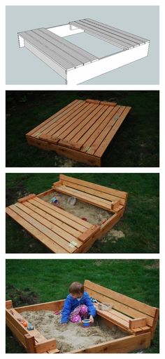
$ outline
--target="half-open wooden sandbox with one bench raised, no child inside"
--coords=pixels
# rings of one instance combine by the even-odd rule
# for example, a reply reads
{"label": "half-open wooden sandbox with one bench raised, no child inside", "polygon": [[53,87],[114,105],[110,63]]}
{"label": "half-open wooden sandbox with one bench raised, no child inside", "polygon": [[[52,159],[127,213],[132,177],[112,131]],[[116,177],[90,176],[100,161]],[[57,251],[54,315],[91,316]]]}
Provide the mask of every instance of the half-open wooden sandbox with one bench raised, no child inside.
{"label": "half-open wooden sandbox with one bench raised, no child inside", "polygon": [[[108,218],[103,224],[84,221],[43,200],[53,192],[105,209]],[[50,190],[19,199],[6,207],[6,214],[54,253],[85,253],[120,220],[126,202],[127,192],[61,174]]]}

